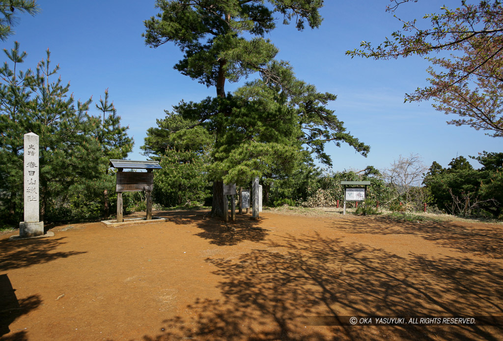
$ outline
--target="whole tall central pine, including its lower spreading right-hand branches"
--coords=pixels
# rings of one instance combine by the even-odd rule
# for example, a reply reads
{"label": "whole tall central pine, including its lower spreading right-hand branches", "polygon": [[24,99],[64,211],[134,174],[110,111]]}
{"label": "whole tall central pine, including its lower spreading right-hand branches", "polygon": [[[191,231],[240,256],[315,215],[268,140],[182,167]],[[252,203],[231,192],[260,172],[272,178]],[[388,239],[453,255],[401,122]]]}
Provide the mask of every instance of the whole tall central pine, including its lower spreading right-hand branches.
{"label": "whole tall central pine, including its lower spreading right-hand branches", "polygon": [[[203,125],[215,134],[213,163],[209,172],[210,180],[214,180],[214,216],[223,217],[226,212],[222,180],[242,183],[252,176],[267,173],[267,169],[272,174],[271,171],[277,167],[291,171],[298,164],[296,152],[300,150],[300,138],[289,140],[288,143],[285,140],[264,140],[265,129],[261,131],[262,140],[258,141],[252,131],[256,128],[260,130],[269,123],[264,115],[277,115],[278,111],[270,108],[259,117],[261,113],[249,110],[248,104],[226,95],[226,80],[237,82],[250,74],[260,73],[262,84],[250,84],[247,90],[258,94],[258,97],[264,94],[259,94],[257,90],[265,89],[265,86],[280,88],[284,92],[281,95],[283,98],[278,96],[280,91],[273,89],[276,94],[273,91],[272,95],[276,98],[271,101],[268,98],[270,94],[267,94],[264,95],[264,102],[277,102],[287,111],[300,110],[305,122],[300,122],[300,130],[299,125],[292,125],[290,129],[295,130],[296,127],[297,132],[303,129],[306,143],[310,143],[310,147],[326,161],[329,162],[329,158],[323,155],[322,149],[326,141],[345,141],[357,146],[355,148],[360,149],[360,152],[368,151],[367,146],[344,132],[342,122],[324,108],[327,101],[335,96],[320,94],[313,86],[296,80],[287,62],[274,60],[278,49],[264,38],[276,26],[276,13],[284,16],[285,24],[295,18],[299,30],[304,28],[305,23],[311,28],[318,27],[321,23],[318,10],[323,2],[269,0],[268,3],[269,7],[262,0],[158,0],[156,7],[161,12],[157,17],[145,21],[147,45],[158,47],[166,42],[174,42],[184,53],[175,69],[216,89],[217,97],[214,99],[207,98],[201,103],[181,103],[184,119],[193,121],[193,126]],[[262,104],[260,100],[257,102],[251,105]],[[293,124],[293,121],[289,122]],[[287,125],[285,123],[285,127]],[[276,134],[276,137],[279,135]],[[330,138],[326,139],[327,136]]]}

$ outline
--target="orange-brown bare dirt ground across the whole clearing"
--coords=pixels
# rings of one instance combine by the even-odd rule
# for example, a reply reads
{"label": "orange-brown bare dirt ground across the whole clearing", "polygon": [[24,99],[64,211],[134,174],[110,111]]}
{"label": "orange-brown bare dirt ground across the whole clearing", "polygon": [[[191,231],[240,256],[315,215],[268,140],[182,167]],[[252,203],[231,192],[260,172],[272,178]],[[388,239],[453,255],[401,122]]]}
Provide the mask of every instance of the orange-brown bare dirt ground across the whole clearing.
{"label": "orange-brown bare dirt ground across the whole clearing", "polygon": [[226,227],[205,213],[0,236],[0,339],[503,339],[501,325],[308,317],[501,316],[501,225],[264,212]]}

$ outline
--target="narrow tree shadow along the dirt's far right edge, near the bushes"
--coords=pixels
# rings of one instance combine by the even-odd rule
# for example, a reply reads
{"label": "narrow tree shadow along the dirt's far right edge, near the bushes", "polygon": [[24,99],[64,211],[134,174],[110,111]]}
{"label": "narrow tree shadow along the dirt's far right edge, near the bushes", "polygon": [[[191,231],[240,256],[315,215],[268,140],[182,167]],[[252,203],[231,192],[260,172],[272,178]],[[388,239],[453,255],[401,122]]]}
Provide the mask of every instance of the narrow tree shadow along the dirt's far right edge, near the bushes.
{"label": "narrow tree shadow along the dirt's far right edge, near the bushes", "polygon": [[503,259],[501,226],[457,224],[454,222],[397,222],[386,217],[373,217],[351,224],[334,223],[333,229],[346,233],[408,234],[434,241],[443,247],[477,256]]}

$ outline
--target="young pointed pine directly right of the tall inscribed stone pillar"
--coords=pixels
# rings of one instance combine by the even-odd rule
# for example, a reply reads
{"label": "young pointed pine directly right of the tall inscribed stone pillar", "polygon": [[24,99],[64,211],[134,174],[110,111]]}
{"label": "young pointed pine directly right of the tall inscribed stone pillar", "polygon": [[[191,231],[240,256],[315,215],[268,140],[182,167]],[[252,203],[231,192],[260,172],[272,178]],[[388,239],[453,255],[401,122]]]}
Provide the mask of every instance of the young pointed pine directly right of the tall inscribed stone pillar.
{"label": "young pointed pine directly right of the tall inscribed stone pillar", "polygon": [[27,128],[40,137],[41,219],[49,208],[94,190],[103,157],[93,137],[99,123],[88,115],[91,99],[75,105],[73,96],[68,96],[70,84],[63,85],[60,78],[52,81],[58,71],[59,65],[51,67],[47,50],[47,58],[28,77],[32,121]]}

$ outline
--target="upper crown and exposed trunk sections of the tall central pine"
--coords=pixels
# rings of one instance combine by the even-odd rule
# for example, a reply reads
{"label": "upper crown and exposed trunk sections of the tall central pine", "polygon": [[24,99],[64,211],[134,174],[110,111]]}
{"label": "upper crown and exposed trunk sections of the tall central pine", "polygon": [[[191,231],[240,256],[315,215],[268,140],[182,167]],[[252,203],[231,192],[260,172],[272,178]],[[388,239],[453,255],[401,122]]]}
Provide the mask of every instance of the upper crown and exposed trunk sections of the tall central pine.
{"label": "upper crown and exposed trunk sections of the tall central pine", "polygon": [[[225,98],[225,81],[237,82],[254,72],[273,77],[266,65],[278,49],[264,35],[275,28],[274,13],[284,15],[285,23],[296,17],[297,28],[321,23],[320,0],[270,1],[269,9],[262,1],[236,2],[208,0],[193,3],[187,0],[158,0],[157,17],[145,21],[145,42],[158,47],[172,41],[180,46],[184,57],[175,68],[182,74],[216,88],[217,97]],[[254,38],[246,39],[245,36]],[[216,102],[217,110],[200,115],[199,123],[211,119],[216,144],[225,132],[225,102]],[[220,107],[221,106],[221,107]],[[220,161],[220,160],[216,160]],[[212,215],[223,217],[222,179],[215,178]]]}

